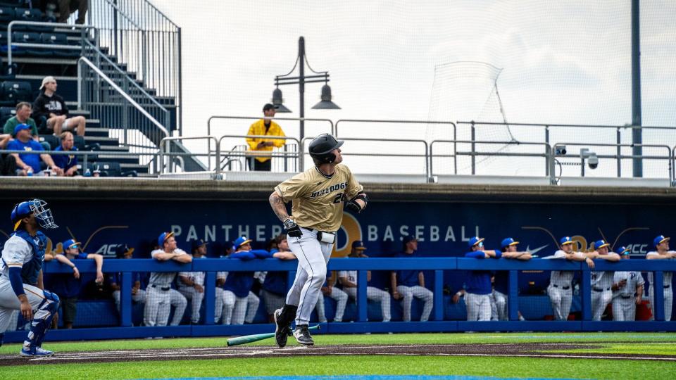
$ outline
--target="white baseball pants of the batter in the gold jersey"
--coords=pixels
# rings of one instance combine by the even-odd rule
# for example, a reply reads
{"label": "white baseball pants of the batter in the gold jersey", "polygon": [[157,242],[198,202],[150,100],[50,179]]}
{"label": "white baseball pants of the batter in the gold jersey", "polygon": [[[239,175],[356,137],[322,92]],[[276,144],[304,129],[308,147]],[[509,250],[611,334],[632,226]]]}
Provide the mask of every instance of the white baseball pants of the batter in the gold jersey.
{"label": "white baseball pants of the batter in the gold jersey", "polygon": [[288,237],[289,249],[298,258],[296,279],[287,293],[287,305],[298,305],[296,326],[309,324],[322,284],[326,281],[326,265],[333,244],[317,240],[317,232],[301,227],[301,237]]}

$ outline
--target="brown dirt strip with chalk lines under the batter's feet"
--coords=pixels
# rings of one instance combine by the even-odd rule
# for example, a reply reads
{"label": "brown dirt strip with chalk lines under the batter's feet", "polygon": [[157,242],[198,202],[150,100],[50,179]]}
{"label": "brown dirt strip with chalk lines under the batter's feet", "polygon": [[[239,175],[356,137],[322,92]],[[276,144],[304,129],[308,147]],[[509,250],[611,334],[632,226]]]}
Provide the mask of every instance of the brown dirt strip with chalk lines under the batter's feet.
{"label": "brown dirt strip with chalk lines under the batter's feet", "polygon": [[[616,342],[615,342],[616,343]],[[606,353],[548,353],[550,350],[603,348],[603,343],[502,343],[502,344],[437,344],[387,346],[313,346],[287,348],[237,346],[220,348],[173,348],[162,350],[115,350],[56,353],[52,357],[25,358],[18,355],[0,355],[0,366],[26,364],[62,364],[128,362],[147,360],[229,359],[242,357],[284,357],[318,355],[430,355],[430,356],[509,356],[584,358],[611,360],[676,361],[676,355],[606,354]]]}

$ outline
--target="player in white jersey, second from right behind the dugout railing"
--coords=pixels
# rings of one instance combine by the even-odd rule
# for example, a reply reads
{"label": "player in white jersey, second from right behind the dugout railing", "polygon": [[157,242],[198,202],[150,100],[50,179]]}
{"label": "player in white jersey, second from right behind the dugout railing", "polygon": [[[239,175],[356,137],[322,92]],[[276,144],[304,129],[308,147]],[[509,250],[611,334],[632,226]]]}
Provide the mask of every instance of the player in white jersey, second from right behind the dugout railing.
{"label": "player in white jersey, second from right behind the dugout railing", "polygon": [[[629,248],[620,247],[615,251],[622,260],[629,260]],[[643,301],[645,281],[641,271],[615,272],[613,276],[613,321],[636,320],[636,305]]]}

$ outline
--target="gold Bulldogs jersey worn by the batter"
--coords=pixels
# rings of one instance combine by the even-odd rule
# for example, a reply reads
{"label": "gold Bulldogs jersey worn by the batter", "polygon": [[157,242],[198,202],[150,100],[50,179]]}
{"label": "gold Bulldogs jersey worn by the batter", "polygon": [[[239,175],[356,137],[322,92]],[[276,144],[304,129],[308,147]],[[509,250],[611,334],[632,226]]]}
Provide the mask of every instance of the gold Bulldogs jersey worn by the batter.
{"label": "gold Bulldogs jersey worn by the batter", "polygon": [[343,221],[343,201],[356,196],[363,186],[345,165],[336,165],[332,176],[311,167],[275,187],[284,203],[293,201],[291,213],[301,227],[336,232]]}

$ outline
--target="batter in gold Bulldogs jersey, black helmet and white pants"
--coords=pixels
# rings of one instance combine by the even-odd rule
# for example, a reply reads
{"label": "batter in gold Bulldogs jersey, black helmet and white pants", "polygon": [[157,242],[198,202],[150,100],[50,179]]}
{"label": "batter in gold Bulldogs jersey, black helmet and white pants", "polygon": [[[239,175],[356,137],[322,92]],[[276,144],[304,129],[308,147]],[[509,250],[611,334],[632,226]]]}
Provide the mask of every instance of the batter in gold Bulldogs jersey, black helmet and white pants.
{"label": "batter in gold Bulldogs jersey, black helmet and white pants", "polygon": [[[342,163],[340,146],[344,141],[330,134],[313,139],[309,153],[315,166],[278,184],[270,194],[270,205],[287,230],[289,248],[298,258],[296,279],[284,307],[275,310],[277,345],[287,344],[289,327],[296,320],[296,341],[312,346],[308,331],[310,315],[326,279],[336,232],[343,219],[343,205],[361,213],[368,203],[363,187]],[[292,215],[285,203],[292,201]]]}

